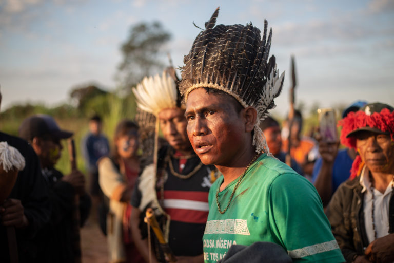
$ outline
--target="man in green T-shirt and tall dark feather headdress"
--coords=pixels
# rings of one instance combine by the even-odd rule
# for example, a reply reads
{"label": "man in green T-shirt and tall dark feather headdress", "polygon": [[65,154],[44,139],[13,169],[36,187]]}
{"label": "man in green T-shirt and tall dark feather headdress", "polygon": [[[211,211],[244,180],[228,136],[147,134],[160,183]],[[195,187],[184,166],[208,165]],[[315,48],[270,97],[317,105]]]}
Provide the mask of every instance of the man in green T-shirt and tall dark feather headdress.
{"label": "man in green T-shirt and tall dark feather headdress", "polygon": [[284,78],[268,60],[272,31],[266,40],[265,22],[261,40],[251,24],[215,26],[218,12],[185,56],[180,84],[191,145],[223,174],[209,192],[204,259],[265,241],[294,262],[343,262],[316,189],[272,157],[259,127]]}

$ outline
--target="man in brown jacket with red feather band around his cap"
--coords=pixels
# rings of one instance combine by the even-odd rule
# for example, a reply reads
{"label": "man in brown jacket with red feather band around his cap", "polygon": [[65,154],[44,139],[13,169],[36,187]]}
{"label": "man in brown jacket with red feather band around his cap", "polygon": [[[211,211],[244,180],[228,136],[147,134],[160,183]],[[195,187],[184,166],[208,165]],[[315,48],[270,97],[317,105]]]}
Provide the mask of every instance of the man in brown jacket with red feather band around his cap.
{"label": "man in brown jacket with red feather band around his cap", "polygon": [[332,233],[347,262],[394,262],[394,108],[367,104],[340,125],[359,155],[327,207]]}

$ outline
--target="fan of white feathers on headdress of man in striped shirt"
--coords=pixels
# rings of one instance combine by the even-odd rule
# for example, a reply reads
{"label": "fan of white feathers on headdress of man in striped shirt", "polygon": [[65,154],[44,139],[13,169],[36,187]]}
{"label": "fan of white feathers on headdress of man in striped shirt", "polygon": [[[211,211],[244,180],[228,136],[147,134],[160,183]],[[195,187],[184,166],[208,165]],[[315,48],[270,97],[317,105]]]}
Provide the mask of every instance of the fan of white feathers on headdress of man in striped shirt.
{"label": "fan of white feathers on headdress of man in striped shirt", "polygon": [[162,76],[145,77],[133,88],[137,106],[157,116],[163,109],[175,108],[178,92],[174,79],[163,71]]}

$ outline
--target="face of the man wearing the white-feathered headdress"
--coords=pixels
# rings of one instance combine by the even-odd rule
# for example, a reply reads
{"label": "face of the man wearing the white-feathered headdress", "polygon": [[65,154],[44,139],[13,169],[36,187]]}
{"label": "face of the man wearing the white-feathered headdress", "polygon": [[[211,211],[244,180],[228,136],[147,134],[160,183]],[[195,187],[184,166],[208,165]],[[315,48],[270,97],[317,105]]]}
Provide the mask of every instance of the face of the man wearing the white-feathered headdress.
{"label": "face of the man wearing the white-feathered headdress", "polygon": [[191,151],[187,138],[185,111],[181,108],[163,109],[159,112],[162,133],[176,151]]}

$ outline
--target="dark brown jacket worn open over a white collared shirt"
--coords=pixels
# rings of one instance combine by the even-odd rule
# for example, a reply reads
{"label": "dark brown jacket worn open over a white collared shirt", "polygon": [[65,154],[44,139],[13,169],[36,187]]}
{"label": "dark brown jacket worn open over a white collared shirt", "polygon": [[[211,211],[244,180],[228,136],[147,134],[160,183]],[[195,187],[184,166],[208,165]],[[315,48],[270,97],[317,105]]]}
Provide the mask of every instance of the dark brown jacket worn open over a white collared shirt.
{"label": "dark brown jacket worn open over a white collared shirt", "polygon": [[[360,177],[342,183],[327,206],[326,215],[346,262],[363,255],[369,245],[364,222],[364,193]],[[394,195],[389,203],[389,233],[394,233]]]}

